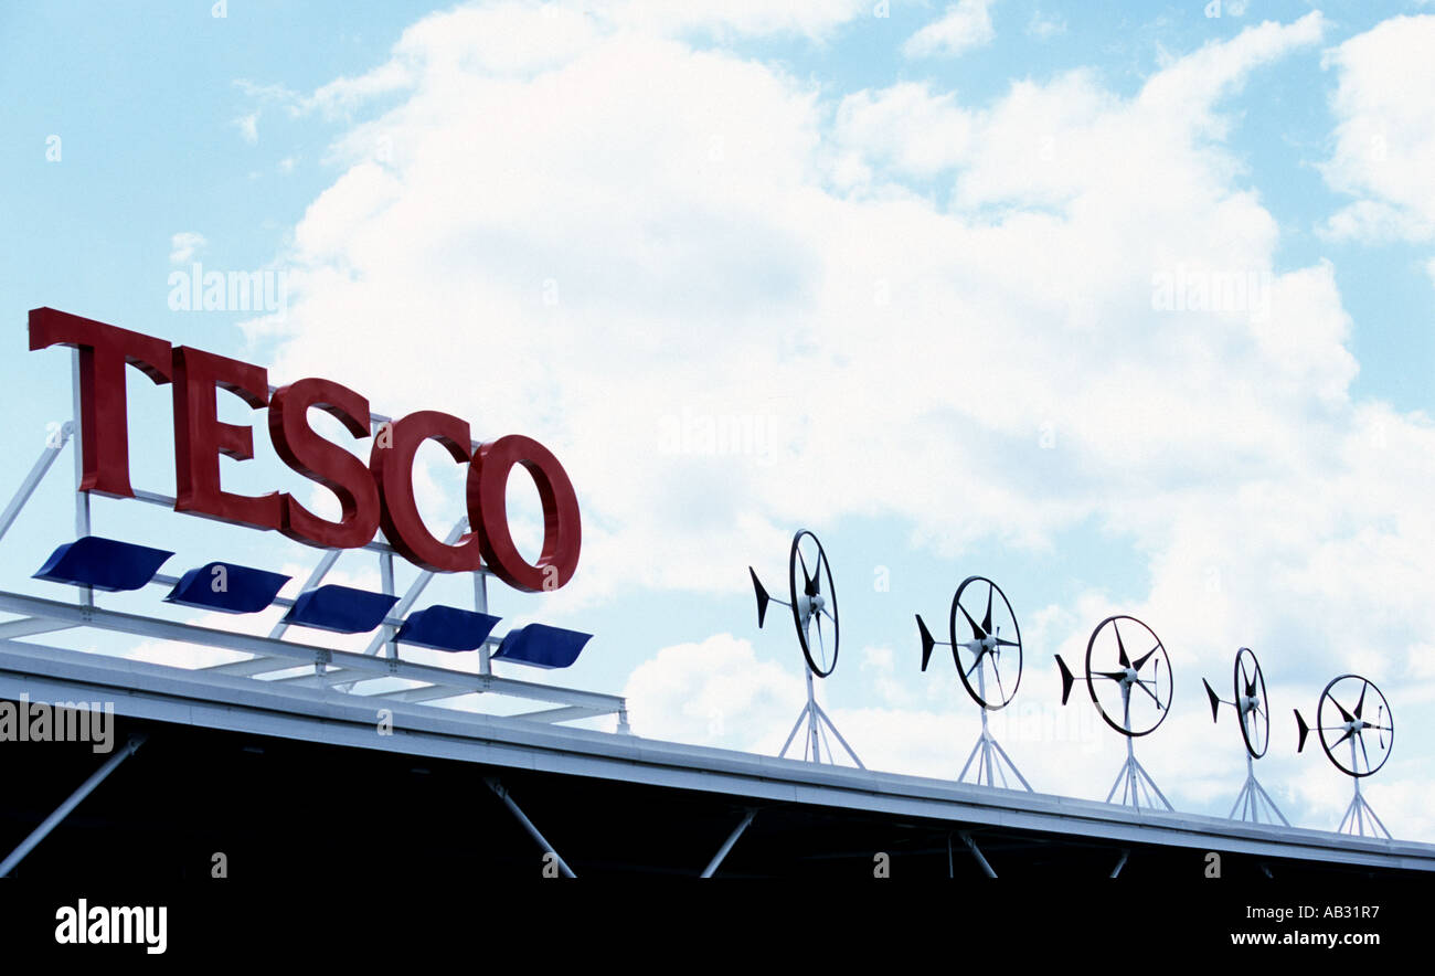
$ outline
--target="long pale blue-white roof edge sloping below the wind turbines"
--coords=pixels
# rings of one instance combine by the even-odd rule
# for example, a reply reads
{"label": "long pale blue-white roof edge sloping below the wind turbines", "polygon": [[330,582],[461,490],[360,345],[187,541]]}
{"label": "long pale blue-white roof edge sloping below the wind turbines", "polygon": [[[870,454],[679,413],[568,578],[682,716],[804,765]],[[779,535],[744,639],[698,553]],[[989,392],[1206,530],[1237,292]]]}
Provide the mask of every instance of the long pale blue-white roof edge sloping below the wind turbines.
{"label": "long pale blue-white roof edge sloping below the wind turbines", "polygon": [[[113,700],[119,715],[415,756],[641,782],[1118,843],[1435,871],[1435,844],[1134,810],[905,774],[817,765],[634,735],[458,712],[334,689],[0,642],[0,698]],[[393,735],[377,733],[379,708]]]}

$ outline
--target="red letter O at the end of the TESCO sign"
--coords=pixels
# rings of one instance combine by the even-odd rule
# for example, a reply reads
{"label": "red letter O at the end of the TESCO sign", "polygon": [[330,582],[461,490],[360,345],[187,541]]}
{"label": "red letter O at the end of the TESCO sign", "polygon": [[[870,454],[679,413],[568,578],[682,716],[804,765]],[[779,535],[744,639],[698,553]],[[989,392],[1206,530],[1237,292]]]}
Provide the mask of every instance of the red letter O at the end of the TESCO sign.
{"label": "red letter O at the end of the TESCO sign", "polygon": [[[521,464],[542,504],[542,554],[528,566],[508,531],[508,472]],[[517,590],[557,590],[578,568],[583,525],[568,472],[548,448],[517,433],[479,446],[468,468],[468,521],[479,527],[484,561]]]}

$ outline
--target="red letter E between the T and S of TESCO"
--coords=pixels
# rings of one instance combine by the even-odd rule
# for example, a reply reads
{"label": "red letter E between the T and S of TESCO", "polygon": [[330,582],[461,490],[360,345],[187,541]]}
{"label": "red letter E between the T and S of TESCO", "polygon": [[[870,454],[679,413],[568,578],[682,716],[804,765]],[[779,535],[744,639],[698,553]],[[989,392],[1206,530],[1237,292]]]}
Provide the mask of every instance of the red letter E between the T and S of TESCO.
{"label": "red letter E between the T and S of TESCO", "polygon": [[174,350],[175,370],[175,511],[195,512],[278,528],[280,494],[231,495],[220,488],[220,455],[235,461],[254,456],[254,431],[221,423],[215,389],[227,389],[255,410],[268,402],[268,373],[237,359],[225,359],[188,346]]}

